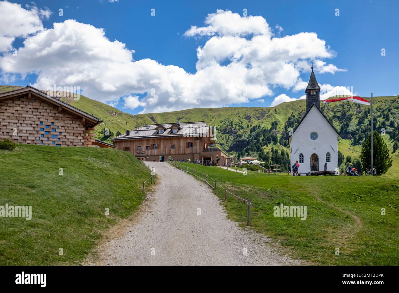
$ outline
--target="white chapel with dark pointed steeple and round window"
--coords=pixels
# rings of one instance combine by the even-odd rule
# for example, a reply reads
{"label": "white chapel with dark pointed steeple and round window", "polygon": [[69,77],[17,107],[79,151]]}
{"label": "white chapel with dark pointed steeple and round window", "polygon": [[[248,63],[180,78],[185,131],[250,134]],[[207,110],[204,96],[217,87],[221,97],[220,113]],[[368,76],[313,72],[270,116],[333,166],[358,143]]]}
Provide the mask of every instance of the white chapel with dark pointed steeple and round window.
{"label": "white chapel with dark pointed steeple and round window", "polygon": [[[306,87],[306,113],[288,142],[291,166],[298,161],[300,175],[334,171],[338,166],[338,136],[332,123],[320,110],[320,86],[313,72]],[[331,172],[325,172],[331,173]]]}

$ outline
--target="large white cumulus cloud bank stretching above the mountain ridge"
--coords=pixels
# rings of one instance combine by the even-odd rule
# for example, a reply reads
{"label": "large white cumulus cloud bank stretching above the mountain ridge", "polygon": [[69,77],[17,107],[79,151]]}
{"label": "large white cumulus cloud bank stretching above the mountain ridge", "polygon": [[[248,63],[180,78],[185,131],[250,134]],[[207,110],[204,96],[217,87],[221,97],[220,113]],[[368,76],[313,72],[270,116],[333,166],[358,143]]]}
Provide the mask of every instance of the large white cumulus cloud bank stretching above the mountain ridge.
{"label": "large white cumulus cloud bank stretching above the mountain ridge", "polygon": [[[35,73],[35,87],[79,86],[89,98],[112,105],[122,101],[130,109],[141,106],[142,112],[260,101],[273,96],[275,87],[300,90],[305,83],[300,74],[309,70],[306,67],[310,67],[310,59],[336,55],[316,33],[275,37],[261,16],[241,17],[217,10],[208,14],[205,26],[191,27],[185,33],[188,37],[206,38],[205,44],[197,48],[196,72],[188,73],[152,59],[134,60],[134,50],[119,40],[109,40],[102,28],[65,20],[43,29],[37,9],[20,13],[21,18],[25,14],[36,15],[32,18],[34,26],[26,35],[20,31],[13,36],[3,35],[25,38],[18,58],[10,52],[0,57],[3,80]],[[331,73],[340,71],[326,62],[315,64],[317,68]],[[142,98],[138,98],[139,94]]]}

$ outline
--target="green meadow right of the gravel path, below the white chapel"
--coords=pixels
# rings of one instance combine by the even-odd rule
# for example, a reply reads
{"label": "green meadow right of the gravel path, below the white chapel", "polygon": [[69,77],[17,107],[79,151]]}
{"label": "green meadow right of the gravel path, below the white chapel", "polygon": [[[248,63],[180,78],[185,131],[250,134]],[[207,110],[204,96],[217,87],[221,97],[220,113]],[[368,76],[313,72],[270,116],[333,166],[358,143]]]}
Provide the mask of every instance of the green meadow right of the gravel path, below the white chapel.
{"label": "green meadow right of the gravel path, below the white chapel", "polygon": [[[251,201],[251,228],[279,241],[276,249],[319,265],[399,265],[397,176],[286,176],[235,173],[192,163],[227,190]],[[183,171],[181,171],[183,172]],[[213,181],[209,179],[213,185]],[[229,218],[244,226],[247,206],[217,187]],[[307,206],[306,220],[275,217],[274,206]],[[381,208],[386,215],[381,215]],[[339,255],[336,255],[339,248]]]}

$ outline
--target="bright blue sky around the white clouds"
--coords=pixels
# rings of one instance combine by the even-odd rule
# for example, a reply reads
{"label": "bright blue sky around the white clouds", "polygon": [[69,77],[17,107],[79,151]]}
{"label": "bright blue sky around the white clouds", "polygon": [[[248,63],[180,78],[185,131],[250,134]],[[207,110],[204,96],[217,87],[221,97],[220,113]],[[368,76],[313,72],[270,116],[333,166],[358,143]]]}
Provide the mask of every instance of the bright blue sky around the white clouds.
{"label": "bright blue sky around the white clouds", "polygon": [[[12,3],[22,4],[22,8],[26,8],[26,4],[32,5],[30,1],[10,1]],[[124,43],[125,48],[134,50],[132,57],[134,61],[142,59],[151,59],[158,63],[167,66],[174,65],[180,67],[187,74],[195,75],[197,72],[196,63],[198,61],[197,48],[203,47],[211,36],[192,35],[185,36],[184,33],[190,29],[191,26],[205,27],[205,18],[208,14],[215,14],[216,11],[231,11],[233,14],[237,13],[243,16],[243,9],[247,9],[248,16],[261,16],[265,19],[271,28],[274,37],[284,37],[288,35],[296,35],[302,32],[314,32],[318,39],[324,40],[326,47],[334,51],[334,57],[321,58],[316,57],[327,64],[333,64],[336,68],[346,71],[336,71],[334,74],[330,72],[317,72],[316,78],[320,84],[329,84],[332,87],[353,87],[353,92],[361,96],[370,96],[373,92],[374,96],[389,96],[399,94],[397,84],[397,70],[399,68],[399,3],[397,1],[124,1],[110,3],[107,0],[103,1],[35,1],[35,6],[38,10],[48,8],[52,12],[49,18],[41,17],[43,28],[52,29],[53,23],[63,23],[65,20],[73,19],[81,24],[90,24],[95,28],[105,29],[105,37],[113,42],[118,40]],[[59,8],[63,9],[63,16],[59,16]],[[151,9],[155,9],[155,16],[151,16]],[[336,9],[339,9],[339,16],[336,16]],[[283,30],[279,33],[280,26]],[[6,27],[0,26],[0,32],[7,35],[4,30]],[[35,32],[31,35],[35,35]],[[253,35],[243,35],[244,39],[251,39]],[[29,36],[16,36],[12,43],[13,48],[23,47],[22,41]],[[95,41],[93,46],[95,46]],[[385,56],[381,56],[381,49],[385,49]],[[101,51],[101,48],[99,49]],[[23,54],[23,50],[21,51]],[[62,59],[62,53],[57,56]],[[25,52],[26,53],[26,52]],[[0,53],[3,57],[6,53]],[[118,54],[116,51],[115,54]],[[32,59],[32,55],[30,55]],[[65,58],[68,58],[65,53]],[[84,56],[83,56],[84,57]],[[82,57],[82,58],[83,58]],[[250,57],[248,57],[250,60]],[[307,60],[310,62],[311,58]],[[80,59],[75,59],[72,63],[76,67],[80,67]],[[82,59],[83,60],[83,59]],[[22,61],[21,61],[22,62]],[[33,62],[33,61],[32,61]],[[118,62],[116,65],[107,67],[108,71],[118,71]],[[219,65],[224,66],[230,62],[229,58],[220,61]],[[59,65],[62,61],[54,61],[54,70],[63,71],[65,65]],[[0,66],[1,66],[0,62]],[[3,63],[4,64],[4,63]],[[0,83],[13,85],[27,85],[30,78],[31,84],[35,85],[36,79],[39,75],[40,68],[34,67],[0,67],[3,74],[3,80]],[[59,66],[59,67],[58,67]],[[69,65],[70,66],[70,65]],[[90,68],[87,67],[87,71]],[[97,66],[97,65],[93,65]],[[150,66],[150,65],[149,65]],[[152,66],[152,65],[151,65]],[[58,68],[57,68],[58,67]],[[109,69],[111,68],[111,69]],[[140,67],[141,68],[141,67]],[[152,67],[146,67],[145,70],[151,71]],[[100,71],[100,69],[98,69]],[[135,69],[134,69],[135,70]],[[86,71],[86,72],[87,72]],[[8,74],[8,79],[4,79],[4,74]],[[14,74],[11,78],[9,74]],[[24,76],[27,74],[26,76]],[[110,74],[110,73],[109,73]],[[150,74],[150,73],[148,73]],[[223,73],[222,73],[223,74]],[[299,70],[299,78],[302,81],[308,81],[309,72]],[[63,75],[62,77],[55,77],[54,82],[62,85],[66,80],[71,79],[71,75]],[[143,74],[146,75],[146,74]],[[215,75],[217,76],[217,74]],[[267,74],[265,77],[268,78]],[[111,81],[114,77],[111,77]],[[118,77],[116,77],[118,78]],[[123,78],[127,78],[124,76]],[[164,76],[160,75],[160,79]],[[226,77],[224,77],[226,78]],[[228,77],[227,77],[228,78]],[[237,77],[239,78],[239,77]],[[282,75],[285,78],[285,75]],[[213,80],[215,77],[212,78]],[[44,80],[52,85],[51,74],[40,79],[37,85],[43,87]],[[96,80],[96,77],[90,77],[90,80]],[[156,108],[155,106],[147,106],[151,102],[151,98],[147,91],[142,88],[148,88],[152,84],[151,78],[146,80],[140,77],[138,81],[132,83],[124,83],[120,88],[122,91],[112,93],[112,101],[107,101],[105,96],[110,92],[109,88],[99,92],[99,84],[93,85],[97,89],[89,89],[89,81],[82,82],[82,93],[89,98],[101,100],[110,103],[124,112],[136,114],[144,110],[144,112],[160,112],[162,109],[171,110],[175,103],[175,99],[170,102],[168,100],[168,87],[162,88],[165,90],[159,95],[158,103],[171,104],[171,106],[164,108]],[[206,83],[206,79],[196,79],[194,83]],[[102,81],[104,83],[104,80]],[[137,83],[137,84],[134,84]],[[141,85],[140,83],[148,83],[149,85]],[[192,90],[193,98],[196,98],[196,88],[192,85],[184,87]],[[79,82],[77,83],[79,85]],[[142,87],[141,87],[142,86]],[[131,87],[131,90],[130,90]],[[180,88],[180,85],[174,83],[174,87]],[[182,86],[183,87],[183,86]],[[220,90],[219,85],[214,85]],[[253,84],[248,86],[253,87]],[[140,88],[140,91],[138,90]],[[156,87],[158,90],[158,87]],[[198,106],[270,106],[276,96],[285,94],[284,98],[290,97],[300,98],[304,94],[304,90],[293,90],[292,83],[288,86],[282,86],[278,83],[271,83],[267,89],[262,89],[267,94],[259,96],[262,90],[249,94],[249,100],[242,102],[241,99],[234,99],[231,96],[226,96],[223,100],[215,100],[206,102],[206,94],[204,89],[198,90],[201,98],[198,98]],[[186,92],[187,89],[182,90]],[[210,87],[209,91],[213,91]],[[214,92],[214,91],[213,91]],[[91,93],[89,95],[88,93]],[[220,93],[223,95],[223,92]],[[124,96],[124,98],[116,98],[116,96]],[[96,96],[101,96],[97,98]],[[132,97],[134,96],[134,97]],[[190,95],[189,95],[190,96]],[[127,98],[126,98],[127,97]],[[130,98],[130,100],[129,100]],[[211,98],[210,98],[211,99]],[[178,98],[179,100],[179,98]],[[232,102],[229,103],[229,100]],[[284,99],[283,99],[284,100]],[[129,102],[126,102],[129,101]],[[161,102],[162,101],[162,102]],[[182,98],[178,102],[181,108],[193,108],[190,102],[185,103],[187,98]],[[285,100],[284,100],[285,101]],[[127,105],[130,105],[127,106]],[[136,106],[133,107],[132,105]]]}

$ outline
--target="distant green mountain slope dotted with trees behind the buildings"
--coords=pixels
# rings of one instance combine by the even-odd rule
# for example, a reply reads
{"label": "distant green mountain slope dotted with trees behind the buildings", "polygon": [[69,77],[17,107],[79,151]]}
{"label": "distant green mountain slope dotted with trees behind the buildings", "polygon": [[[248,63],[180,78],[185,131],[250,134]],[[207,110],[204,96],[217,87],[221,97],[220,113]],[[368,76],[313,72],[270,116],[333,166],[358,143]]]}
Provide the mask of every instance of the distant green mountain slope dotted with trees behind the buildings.
{"label": "distant green mountain slope dotted with trees behind the buildings", "polygon": [[[12,90],[13,86],[0,86],[0,92]],[[366,97],[367,98],[367,97]],[[65,98],[64,98],[65,100]],[[71,105],[93,114],[101,120],[97,126],[95,138],[110,142],[110,137],[101,134],[109,128],[116,136],[126,129],[134,129],[145,124],[204,120],[216,126],[216,145],[230,155],[252,156],[267,163],[280,164],[280,168],[289,168],[288,132],[295,128],[306,110],[306,100],[297,100],[267,107],[223,107],[196,108],[165,113],[131,115],[117,108],[81,96],[80,100],[66,100]],[[338,150],[352,162],[359,160],[361,143],[370,130],[370,106],[353,102],[321,103],[321,109],[341,134]],[[378,131],[385,128],[384,136],[388,146],[399,142],[399,96],[379,96],[374,98],[374,125]],[[273,147],[273,152],[272,152]],[[394,165],[399,165],[397,153],[393,153]],[[347,165],[344,160],[341,167]]]}

